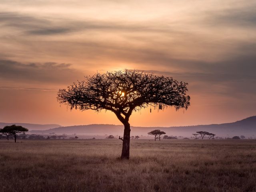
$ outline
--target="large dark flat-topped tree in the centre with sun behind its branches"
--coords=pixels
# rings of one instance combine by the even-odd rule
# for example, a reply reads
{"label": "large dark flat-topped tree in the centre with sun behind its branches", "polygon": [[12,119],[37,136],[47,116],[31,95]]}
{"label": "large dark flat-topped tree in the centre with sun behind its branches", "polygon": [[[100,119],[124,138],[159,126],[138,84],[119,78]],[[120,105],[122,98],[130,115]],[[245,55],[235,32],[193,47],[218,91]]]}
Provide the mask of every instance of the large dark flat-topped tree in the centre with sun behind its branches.
{"label": "large dark flat-topped tree in the centre with sun behind its branches", "polygon": [[133,111],[150,106],[174,106],[176,110],[187,109],[190,96],[186,95],[187,83],[173,78],[155,76],[136,70],[119,70],[96,73],[85,77],[67,89],[58,92],[57,99],[61,104],[84,110],[110,110],[124,124],[124,136],[121,159],[130,156],[130,124]]}

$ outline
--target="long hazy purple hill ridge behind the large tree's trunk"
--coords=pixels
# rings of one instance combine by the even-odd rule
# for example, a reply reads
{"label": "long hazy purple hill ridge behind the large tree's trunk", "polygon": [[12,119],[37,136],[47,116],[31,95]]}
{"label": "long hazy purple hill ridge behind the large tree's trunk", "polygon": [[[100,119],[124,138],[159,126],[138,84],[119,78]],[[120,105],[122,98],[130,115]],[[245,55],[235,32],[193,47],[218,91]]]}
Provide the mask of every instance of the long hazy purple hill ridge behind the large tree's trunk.
{"label": "long hazy purple hill ridge behind the large tree's trunk", "polygon": [[[131,135],[147,136],[147,133],[154,129],[160,129],[169,136],[192,136],[196,131],[208,131],[221,137],[232,137],[244,135],[246,137],[256,136],[256,116],[252,116],[240,121],[224,124],[196,125],[196,126],[178,126],[178,127],[134,127],[131,126]],[[44,131],[31,131],[38,134],[80,134],[80,135],[114,135],[122,136],[122,125],[109,124],[91,124],[79,126],[67,126],[51,128]]]}

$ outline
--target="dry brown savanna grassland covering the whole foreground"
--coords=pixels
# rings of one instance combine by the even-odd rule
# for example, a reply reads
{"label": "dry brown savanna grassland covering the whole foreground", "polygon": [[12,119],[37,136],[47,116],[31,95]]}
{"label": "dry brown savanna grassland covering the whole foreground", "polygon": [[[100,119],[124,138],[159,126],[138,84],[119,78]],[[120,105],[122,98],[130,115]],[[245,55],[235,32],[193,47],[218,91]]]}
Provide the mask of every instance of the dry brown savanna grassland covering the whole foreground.
{"label": "dry brown savanna grassland covering the whole foreground", "polygon": [[[22,141],[22,142],[21,142]],[[2,192],[255,192],[256,140],[0,140]]]}

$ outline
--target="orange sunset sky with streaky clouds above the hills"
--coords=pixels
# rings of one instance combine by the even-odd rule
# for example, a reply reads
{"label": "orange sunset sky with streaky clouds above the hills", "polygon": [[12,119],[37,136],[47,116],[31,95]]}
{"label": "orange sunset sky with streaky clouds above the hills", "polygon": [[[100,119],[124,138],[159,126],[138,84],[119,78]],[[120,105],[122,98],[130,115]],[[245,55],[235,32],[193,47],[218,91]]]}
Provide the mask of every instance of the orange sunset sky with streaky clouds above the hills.
{"label": "orange sunset sky with streaky clouds above the hills", "polygon": [[59,89],[142,70],[188,83],[188,110],[144,109],[132,126],[234,122],[256,115],[255,0],[0,0],[0,122],[121,124],[70,111]]}

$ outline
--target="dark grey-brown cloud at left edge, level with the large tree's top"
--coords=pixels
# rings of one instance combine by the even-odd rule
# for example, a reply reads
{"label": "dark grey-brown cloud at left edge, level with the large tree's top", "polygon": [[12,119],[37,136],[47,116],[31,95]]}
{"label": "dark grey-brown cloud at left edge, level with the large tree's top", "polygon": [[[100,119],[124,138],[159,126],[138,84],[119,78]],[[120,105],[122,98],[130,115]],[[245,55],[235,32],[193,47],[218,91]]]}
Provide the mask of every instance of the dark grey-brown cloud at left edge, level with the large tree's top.
{"label": "dark grey-brown cloud at left edge, level with the large tree's top", "polygon": [[0,60],[0,79],[14,82],[46,82],[50,84],[72,83],[81,79],[82,72],[70,68],[71,64],[24,64],[11,60]]}

